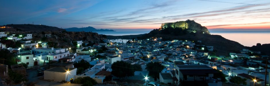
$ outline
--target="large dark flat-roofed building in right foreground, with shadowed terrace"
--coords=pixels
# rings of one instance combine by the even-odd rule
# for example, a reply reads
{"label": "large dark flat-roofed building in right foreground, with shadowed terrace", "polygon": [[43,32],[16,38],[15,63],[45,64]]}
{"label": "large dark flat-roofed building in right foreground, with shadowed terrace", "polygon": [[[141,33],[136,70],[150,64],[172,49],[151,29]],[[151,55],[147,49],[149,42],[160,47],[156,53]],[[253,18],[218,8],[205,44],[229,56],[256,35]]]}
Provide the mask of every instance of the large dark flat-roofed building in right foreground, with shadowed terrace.
{"label": "large dark flat-roofed building in right foreground, with shadowed terrace", "polygon": [[215,73],[218,72],[207,65],[177,65],[175,77],[178,81],[175,83],[181,82],[184,86],[222,86],[222,82],[215,79]]}

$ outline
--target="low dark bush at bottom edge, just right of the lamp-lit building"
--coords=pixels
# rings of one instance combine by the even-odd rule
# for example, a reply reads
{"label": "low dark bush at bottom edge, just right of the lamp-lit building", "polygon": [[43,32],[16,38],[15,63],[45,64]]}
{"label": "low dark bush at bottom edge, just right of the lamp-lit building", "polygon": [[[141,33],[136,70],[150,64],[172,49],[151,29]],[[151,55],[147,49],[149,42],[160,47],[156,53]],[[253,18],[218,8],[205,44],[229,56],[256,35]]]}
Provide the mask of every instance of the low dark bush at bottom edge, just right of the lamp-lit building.
{"label": "low dark bush at bottom edge, just right of the lamp-lit building", "polygon": [[94,86],[97,84],[97,81],[91,77],[78,77],[74,80],[76,84],[82,84],[82,86]]}

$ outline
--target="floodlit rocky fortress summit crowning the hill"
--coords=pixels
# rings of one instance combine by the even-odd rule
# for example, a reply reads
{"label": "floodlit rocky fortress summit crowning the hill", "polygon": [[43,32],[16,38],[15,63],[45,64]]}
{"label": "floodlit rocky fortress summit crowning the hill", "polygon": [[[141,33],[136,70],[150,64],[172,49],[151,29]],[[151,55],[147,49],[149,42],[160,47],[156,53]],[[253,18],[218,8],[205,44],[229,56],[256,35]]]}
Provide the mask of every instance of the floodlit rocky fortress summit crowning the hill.
{"label": "floodlit rocky fortress summit crowning the hill", "polygon": [[182,28],[182,30],[187,30],[188,32],[202,32],[206,34],[210,34],[208,29],[200,24],[196,23],[194,20],[186,20],[186,21],[177,21],[174,23],[163,23],[159,29],[166,28]]}

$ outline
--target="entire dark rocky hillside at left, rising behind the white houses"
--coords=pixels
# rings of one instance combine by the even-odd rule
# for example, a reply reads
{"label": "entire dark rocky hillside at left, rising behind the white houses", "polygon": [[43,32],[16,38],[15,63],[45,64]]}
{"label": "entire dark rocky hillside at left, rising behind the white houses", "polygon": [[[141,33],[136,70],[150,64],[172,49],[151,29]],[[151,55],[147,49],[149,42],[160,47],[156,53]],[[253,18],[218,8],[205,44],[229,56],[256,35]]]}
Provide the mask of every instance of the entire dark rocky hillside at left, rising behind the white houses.
{"label": "entire dark rocky hillside at left, rising behind the white houses", "polygon": [[[5,34],[8,34],[8,36],[12,34],[32,34],[33,42],[55,42],[59,48],[67,48],[72,46],[71,41],[82,40],[84,43],[99,43],[101,40],[105,39],[104,35],[99,35],[95,32],[67,32],[64,29],[56,27],[38,26],[39,25],[27,24],[15,25],[14,27],[7,26],[7,28],[0,28],[0,32],[5,32]],[[29,30],[28,28],[38,28],[38,30]],[[51,34],[52,37],[45,37],[45,34]]]}

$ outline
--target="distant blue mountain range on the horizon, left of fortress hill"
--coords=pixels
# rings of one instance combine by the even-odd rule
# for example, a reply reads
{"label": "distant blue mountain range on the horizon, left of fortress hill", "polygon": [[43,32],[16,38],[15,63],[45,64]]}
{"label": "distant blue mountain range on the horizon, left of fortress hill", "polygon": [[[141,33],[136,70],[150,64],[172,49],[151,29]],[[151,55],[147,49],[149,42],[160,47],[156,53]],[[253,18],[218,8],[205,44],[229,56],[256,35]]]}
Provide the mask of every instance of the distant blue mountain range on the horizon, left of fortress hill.
{"label": "distant blue mountain range on the horizon, left of fortress hill", "polygon": [[114,30],[109,30],[109,29],[96,29],[96,28],[93,28],[93,27],[86,27],[86,28],[66,28],[65,29],[66,31],[69,31],[69,32],[103,32],[103,31],[114,31]]}

